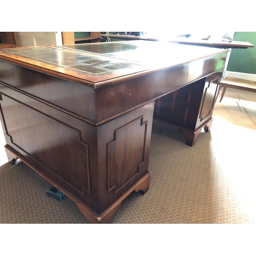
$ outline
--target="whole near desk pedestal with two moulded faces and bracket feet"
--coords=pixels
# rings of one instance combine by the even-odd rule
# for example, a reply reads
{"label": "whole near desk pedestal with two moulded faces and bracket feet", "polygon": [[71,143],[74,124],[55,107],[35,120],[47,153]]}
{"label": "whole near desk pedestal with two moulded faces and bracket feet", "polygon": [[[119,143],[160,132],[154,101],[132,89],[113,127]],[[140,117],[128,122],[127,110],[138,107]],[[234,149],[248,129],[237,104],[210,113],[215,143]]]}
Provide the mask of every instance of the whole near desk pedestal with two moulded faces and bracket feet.
{"label": "whole near desk pedestal with two moulded faces and bracket feet", "polygon": [[6,149],[75,201],[90,223],[109,223],[133,190],[146,193],[154,101],[94,126],[2,92]]}

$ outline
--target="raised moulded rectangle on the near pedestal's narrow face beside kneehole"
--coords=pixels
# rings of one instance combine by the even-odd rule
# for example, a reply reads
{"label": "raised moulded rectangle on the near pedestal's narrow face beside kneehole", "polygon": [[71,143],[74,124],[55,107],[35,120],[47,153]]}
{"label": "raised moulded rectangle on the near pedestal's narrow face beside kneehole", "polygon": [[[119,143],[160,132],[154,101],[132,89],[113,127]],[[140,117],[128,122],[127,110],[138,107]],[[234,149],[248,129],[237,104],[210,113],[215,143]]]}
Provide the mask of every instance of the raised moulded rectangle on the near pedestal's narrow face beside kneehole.
{"label": "raised moulded rectangle on the near pedestal's narrow face beside kneehole", "polygon": [[[143,122],[143,116],[140,116],[114,131],[114,140],[107,144],[108,192],[113,189],[116,194],[139,174],[140,166],[145,161],[146,130],[147,121]],[[125,133],[126,136],[118,136],[119,133]],[[133,153],[136,151],[136,159],[132,160],[128,153],[122,154],[123,147]],[[129,172],[124,172],[123,166],[129,166]]]}

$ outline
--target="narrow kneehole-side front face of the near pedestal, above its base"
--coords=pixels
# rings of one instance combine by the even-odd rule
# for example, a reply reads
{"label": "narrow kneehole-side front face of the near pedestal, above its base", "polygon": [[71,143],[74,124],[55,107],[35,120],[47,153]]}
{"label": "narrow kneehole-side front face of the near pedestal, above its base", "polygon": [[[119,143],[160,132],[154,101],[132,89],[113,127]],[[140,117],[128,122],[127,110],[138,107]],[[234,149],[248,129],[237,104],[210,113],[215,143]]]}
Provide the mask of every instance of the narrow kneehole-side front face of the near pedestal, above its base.
{"label": "narrow kneehole-side front face of the near pedestal, above its base", "polygon": [[99,212],[148,172],[154,101],[98,127]]}

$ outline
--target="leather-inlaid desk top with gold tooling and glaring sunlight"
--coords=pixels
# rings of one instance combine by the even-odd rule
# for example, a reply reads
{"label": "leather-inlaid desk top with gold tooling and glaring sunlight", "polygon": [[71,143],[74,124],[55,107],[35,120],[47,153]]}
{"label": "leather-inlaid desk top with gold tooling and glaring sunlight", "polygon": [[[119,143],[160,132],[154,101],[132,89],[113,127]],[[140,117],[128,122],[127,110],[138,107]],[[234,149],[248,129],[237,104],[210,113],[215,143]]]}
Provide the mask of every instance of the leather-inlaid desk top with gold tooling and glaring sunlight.
{"label": "leather-inlaid desk top with gold tooling and glaring sunlight", "polygon": [[0,51],[0,59],[59,77],[79,78],[97,88],[226,53],[223,49],[135,40],[4,49]]}

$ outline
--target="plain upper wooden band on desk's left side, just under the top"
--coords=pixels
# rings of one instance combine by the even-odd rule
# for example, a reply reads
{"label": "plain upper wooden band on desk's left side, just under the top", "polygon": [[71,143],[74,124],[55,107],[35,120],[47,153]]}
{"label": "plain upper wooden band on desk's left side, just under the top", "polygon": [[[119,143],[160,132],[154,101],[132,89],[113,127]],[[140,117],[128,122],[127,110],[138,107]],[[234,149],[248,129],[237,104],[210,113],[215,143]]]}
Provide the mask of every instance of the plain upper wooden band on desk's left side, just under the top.
{"label": "plain upper wooden band on desk's left side, just under the top", "polygon": [[0,60],[0,82],[54,108],[95,121],[94,89]]}

